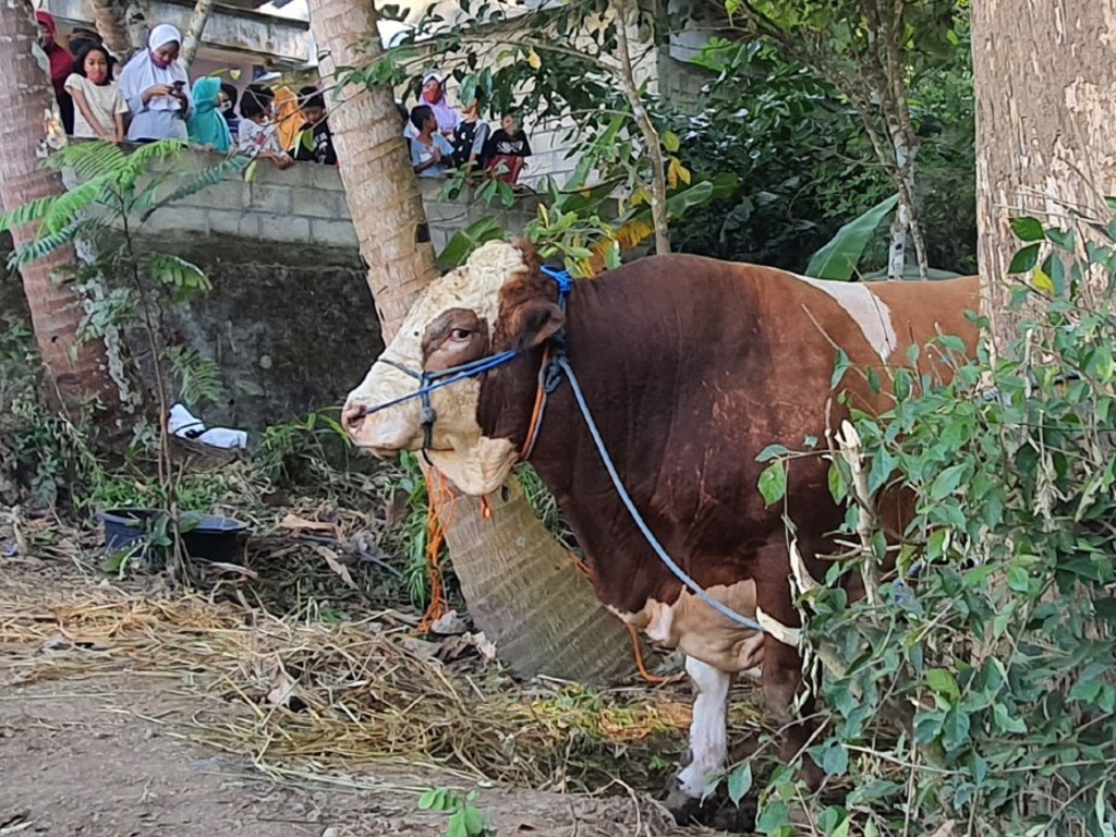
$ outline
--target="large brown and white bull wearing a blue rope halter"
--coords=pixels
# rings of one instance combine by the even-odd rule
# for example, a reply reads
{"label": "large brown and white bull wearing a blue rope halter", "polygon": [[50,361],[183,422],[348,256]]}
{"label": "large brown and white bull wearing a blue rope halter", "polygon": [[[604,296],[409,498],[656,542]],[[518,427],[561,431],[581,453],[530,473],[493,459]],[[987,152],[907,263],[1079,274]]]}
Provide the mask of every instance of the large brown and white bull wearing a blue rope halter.
{"label": "large brown and white bull wearing a blue rope halter", "polygon": [[[825,282],[666,256],[577,282],[564,312],[555,281],[529,248],[492,242],[426,289],[349,395],[345,421],[355,442],[377,455],[419,450],[425,431],[417,400],[364,413],[415,391],[393,364],[437,372],[523,349],[481,379],[431,396],[434,465],[466,493],[497,490],[523,449],[542,347],[564,330],[607,450],[667,552],[738,613],[754,618],[759,605],[797,626],[782,509],[767,508],[757,491],[763,468],[757,454],[771,443],[796,449],[808,436],[824,437],[827,419],[839,426],[845,408],[830,386],[835,346],[862,369],[905,365],[911,344],[940,334],[962,337],[971,352],[977,330],[964,311],[977,307],[977,288],[975,278]],[[862,408],[887,406],[863,375],[846,375],[841,386]],[[797,650],[718,614],[654,555],[602,465],[568,382],[549,397],[530,462],[576,533],[600,599],[652,641],[686,655],[696,700],[691,763],[677,783],[685,798],[702,797],[727,757],[731,677],[761,666],[766,702],[790,721],[801,676]],[[815,556],[833,551],[829,533],[843,518],[827,488],[827,464],[808,456],[788,465],[798,546],[816,577],[824,569]],[[789,728],[783,758],[798,752],[807,733],[804,724]],[[816,769],[808,778],[818,778]]]}

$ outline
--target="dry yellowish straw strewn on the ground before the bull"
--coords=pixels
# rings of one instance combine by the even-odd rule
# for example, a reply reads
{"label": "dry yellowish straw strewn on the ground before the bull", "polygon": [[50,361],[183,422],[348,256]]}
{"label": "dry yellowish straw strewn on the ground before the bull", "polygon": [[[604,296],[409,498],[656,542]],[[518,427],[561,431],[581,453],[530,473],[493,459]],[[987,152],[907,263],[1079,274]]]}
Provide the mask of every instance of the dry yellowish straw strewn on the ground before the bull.
{"label": "dry yellowish straw strewn on the ground before the bull", "polygon": [[[667,768],[685,747],[684,686],[519,686],[475,656],[435,656],[451,643],[460,654],[462,637],[434,645],[410,631],[392,612],[328,625],[201,597],[0,587],[0,667],[13,680],[179,675],[219,699],[189,735],[260,764],[427,760],[474,779],[577,790],[615,778],[618,761],[626,782],[657,786],[662,776],[644,771]],[[756,723],[738,709],[733,737]]]}

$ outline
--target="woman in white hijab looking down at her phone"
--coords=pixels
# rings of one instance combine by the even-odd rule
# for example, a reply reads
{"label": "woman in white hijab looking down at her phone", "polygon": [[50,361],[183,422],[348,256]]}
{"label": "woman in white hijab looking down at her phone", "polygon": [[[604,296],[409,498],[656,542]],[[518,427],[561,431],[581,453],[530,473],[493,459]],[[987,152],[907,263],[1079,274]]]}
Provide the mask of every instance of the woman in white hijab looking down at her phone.
{"label": "woman in white hijab looking down at her phone", "polygon": [[137,52],[121,71],[121,93],[132,112],[129,142],[185,142],[190,84],[179,64],[181,44],[177,29],[160,23],[147,37],[147,49]]}

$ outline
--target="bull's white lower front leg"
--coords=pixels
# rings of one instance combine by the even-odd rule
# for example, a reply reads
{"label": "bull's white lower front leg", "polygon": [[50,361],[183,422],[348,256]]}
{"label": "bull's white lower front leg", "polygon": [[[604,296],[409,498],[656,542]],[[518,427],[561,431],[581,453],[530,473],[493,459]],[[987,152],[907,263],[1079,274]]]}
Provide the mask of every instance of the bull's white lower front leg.
{"label": "bull's white lower front leg", "polygon": [[686,657],[686,673],[696,690],[693,720],[690,722],[690,763],[679,773],[667,807],[679,822],[696,814],[702,797],[712,790],[713,780],[724,769],[729,754],[728,710],[731,675],[720,668]]}

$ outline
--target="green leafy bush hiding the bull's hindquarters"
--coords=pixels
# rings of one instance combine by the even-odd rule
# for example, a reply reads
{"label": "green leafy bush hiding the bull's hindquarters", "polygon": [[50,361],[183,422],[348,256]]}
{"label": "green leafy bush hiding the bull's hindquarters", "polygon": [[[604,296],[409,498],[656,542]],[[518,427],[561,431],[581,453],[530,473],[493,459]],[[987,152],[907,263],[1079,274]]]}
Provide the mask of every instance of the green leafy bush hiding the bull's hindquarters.
{"label": "green leafy bush hiding the bull's hindquarters", "polygon": [[[815,833],[930,834],[952,820],[969,835],[1110,837],[1116,826],[1116,224],[1103,242],[1094,225],[1079,249],[1038,221],[1016,229],[1031,239],[1019,300],[1040,296],[1027,309],[1039,314],[949,385],[898,371],[894,407],[854,412],[848,456],[834,455],[855,548],[801,596],[829,719],[809,752],[853,790],[814,806]],[[1100,302],[1083,304],[1090,296]],[[960,348],[943,337],[933,352]],[[860,490],[850,462],[865,469]],[[888,547],[863,499],[896,480],[914,517]],[[849,602],[835,584],[848,573],[873,595]],[[790,835],[802,792],[777,771],[760,830]]]}

